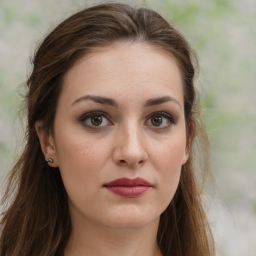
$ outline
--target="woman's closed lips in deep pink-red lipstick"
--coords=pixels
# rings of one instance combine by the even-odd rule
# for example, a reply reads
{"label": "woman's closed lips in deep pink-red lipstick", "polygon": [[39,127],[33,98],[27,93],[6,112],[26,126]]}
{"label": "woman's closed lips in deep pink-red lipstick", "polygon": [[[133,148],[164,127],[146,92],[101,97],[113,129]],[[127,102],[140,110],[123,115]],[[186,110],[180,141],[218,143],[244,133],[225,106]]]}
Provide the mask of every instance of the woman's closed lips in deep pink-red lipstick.
{"label": "woman's closed lips in deep pink-red lipstick", "polygon": [[139,177],[133,179],[117,178],[104,184],[104,187],[123,197],[137,197],[146,193],[152,187],[152,184]]}

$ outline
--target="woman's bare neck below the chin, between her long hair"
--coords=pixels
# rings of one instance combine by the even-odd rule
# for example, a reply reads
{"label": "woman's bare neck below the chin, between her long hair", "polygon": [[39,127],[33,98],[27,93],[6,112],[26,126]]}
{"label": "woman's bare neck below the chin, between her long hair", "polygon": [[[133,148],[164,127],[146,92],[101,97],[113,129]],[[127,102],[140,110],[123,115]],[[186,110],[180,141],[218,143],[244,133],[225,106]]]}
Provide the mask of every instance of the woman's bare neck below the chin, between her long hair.
{"label": "woman's bare neck below the chin, between her long hair", "polygon": [[109,228],[97,224],[76,225],[64,256],[161,256],[156,234],[159,219],[139,228]]}

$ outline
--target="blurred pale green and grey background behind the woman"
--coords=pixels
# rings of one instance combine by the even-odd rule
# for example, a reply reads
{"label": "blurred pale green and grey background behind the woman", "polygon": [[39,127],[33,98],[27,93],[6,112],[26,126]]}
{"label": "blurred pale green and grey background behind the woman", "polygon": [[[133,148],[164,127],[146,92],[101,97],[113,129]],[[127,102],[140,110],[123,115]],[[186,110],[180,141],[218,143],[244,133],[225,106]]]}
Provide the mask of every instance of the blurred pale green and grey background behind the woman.
{"label": "blurred pale green and grey background behind the woman", "polygon": [[[22,100],[18,86],[30,70],[30,52],[50,27],[96,2],[100,1],[0,0],[1,177],[20,141],[21,126],[14,117]],[[255,256],[256,0],[130,2],[163,14],[197,53],[198,90],[216,181],[215,197],[208,204],[217,255]]]}

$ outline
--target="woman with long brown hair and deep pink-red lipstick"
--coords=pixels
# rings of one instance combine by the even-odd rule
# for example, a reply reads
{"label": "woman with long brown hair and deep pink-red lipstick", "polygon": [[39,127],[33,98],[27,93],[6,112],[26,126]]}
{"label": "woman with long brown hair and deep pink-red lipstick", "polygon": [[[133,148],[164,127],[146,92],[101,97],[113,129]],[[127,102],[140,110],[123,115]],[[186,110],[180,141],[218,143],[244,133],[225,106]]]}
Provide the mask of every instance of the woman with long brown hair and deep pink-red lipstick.
{"label": "woman with long brown hair and deep pink-red lipstick", "polygon": [[188,43],[152,10],[100,4],[54,28],[27,80],[0,255],[214,255],[193,78]]}

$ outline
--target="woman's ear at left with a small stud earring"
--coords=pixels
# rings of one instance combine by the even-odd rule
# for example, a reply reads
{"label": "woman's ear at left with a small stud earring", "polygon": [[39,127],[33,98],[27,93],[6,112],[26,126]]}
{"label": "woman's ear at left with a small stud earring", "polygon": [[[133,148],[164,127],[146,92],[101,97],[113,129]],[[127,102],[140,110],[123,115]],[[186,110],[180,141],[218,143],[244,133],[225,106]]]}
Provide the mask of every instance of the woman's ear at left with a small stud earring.
{"label": "woman's ear at left with a small stud earring", "polygon": [[51,167],[57,167],[57,155],[53,136],[45,131],[42,121],[35,122],[35,130],[40,141],[42,153],[44,154],[45,161],[52,158],[53,162],[48,162]]}

